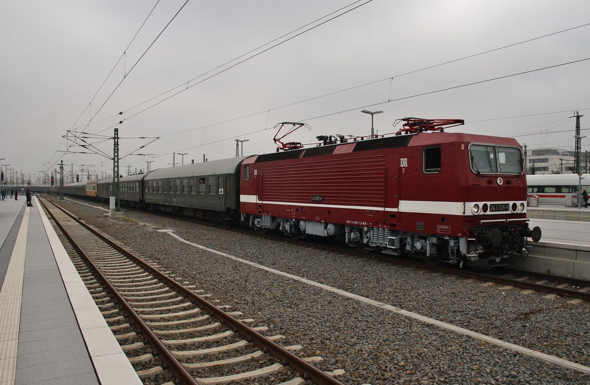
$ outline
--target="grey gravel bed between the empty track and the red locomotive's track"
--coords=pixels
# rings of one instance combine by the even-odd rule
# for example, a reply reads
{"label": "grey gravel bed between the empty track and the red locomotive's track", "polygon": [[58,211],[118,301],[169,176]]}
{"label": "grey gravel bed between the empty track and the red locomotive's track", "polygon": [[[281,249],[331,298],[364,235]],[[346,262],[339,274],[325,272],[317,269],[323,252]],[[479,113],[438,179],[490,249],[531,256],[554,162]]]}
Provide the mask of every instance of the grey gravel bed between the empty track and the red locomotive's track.
{"label": "grey gravel bed between the empty track and the red locomotive's track", "polygon": [[281,344],[299,344],[302,355],[322,356],[324,361],[316,363],[322,370],[344,369],[339,380],[345,384],[590,383],[589,375],[196,249],[137,223],[171,228],[187,241],[585,366],[590,366],[588,303],[503,291],[480,281],[148,213],[111,219],[103,210],[64,205],[232,311],[283,334]]}

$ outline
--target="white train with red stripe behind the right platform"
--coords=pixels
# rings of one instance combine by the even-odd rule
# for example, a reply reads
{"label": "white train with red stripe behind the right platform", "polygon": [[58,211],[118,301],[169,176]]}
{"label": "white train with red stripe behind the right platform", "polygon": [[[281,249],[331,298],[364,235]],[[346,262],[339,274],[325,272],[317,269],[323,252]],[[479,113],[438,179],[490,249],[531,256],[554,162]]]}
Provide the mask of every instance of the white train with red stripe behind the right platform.
{"label": "white train with red stripe behind the right platform", "polygon": [[539,197],[539,203],[564,205],[566,198],[576,195],[581,183],[582,191],[590,191],[590,175],[583,174],[581,179],[576,174],[527,175],[529,195]]}

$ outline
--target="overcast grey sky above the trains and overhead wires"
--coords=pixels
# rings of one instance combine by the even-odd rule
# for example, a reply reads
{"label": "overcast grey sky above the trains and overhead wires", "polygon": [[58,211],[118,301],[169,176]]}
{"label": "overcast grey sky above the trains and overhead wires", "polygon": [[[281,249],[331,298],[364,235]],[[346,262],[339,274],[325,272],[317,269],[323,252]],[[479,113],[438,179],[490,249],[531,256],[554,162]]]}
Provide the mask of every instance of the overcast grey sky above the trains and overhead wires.
{"label": "overcast grey sky above the trains and overhead wires", "polygon": [[[90,136],[112,156],[113,141],[96,136],[114,127],[120,156],[150,154],[124,157],[123,175],[148,160],[169,167],[173,153],[177,164],[178,153],[185,164],[235,156],[235,139],[249,140],[244,155],[269,153],[282,121],[312,129],[286,141],[369,134],[363,108],[385,111],[375,115],[379,134],[403,117],[465,119],[453,130],[512,136],[529,149],[573,149],[576,110],[589,126],[590,60],[418,96],[590,58],[590,25],[496,50],[590,23],[587,0],[185,1],[0,0],[2,169],[33,179],[63,160],[68,175],[112,173],[107,157],[68,153],[87,150],[63,136]],[[150,139],[123,139],[137,137]]]}

